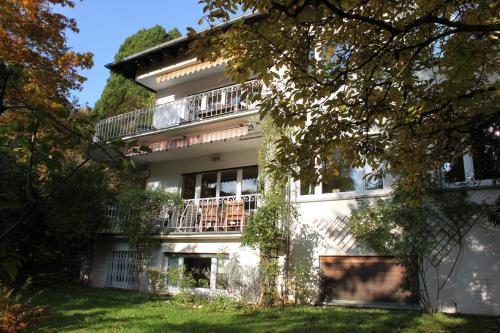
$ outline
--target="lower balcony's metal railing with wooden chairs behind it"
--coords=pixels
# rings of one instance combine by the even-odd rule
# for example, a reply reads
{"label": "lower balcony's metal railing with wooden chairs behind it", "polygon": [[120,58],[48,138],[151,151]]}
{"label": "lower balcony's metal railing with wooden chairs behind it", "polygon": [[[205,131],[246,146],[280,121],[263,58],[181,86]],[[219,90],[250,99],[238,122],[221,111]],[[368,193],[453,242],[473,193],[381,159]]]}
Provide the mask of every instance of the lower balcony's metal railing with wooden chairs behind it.
{"label": "lower balcony's metal railing with wooden chairs behind it", "polygon": [[[182,205],[163,209],[151,223],[158,234],[171,232],[242,232],[257,208],[258,194],[183,200]],[[110,206],[107,232],[120,232],[120,225],[133,217],[130,211]]]}

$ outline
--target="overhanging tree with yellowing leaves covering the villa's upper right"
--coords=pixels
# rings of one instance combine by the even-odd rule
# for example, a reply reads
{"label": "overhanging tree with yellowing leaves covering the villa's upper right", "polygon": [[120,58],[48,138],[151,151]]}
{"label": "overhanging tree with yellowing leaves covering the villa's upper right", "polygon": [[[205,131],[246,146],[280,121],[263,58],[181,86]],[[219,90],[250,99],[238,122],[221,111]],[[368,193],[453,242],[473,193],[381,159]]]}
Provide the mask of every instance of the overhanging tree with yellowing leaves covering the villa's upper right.
{"label": "overhanging tree with yellowing leaves covering the villa's upper right", "polygon": [[291,129],[273,167],[295,178],[339,174],[335,154],[343,166],[397,175],[418,197],[433,172],[496,131],[496,1],[201,2],[212,25],[238,8],[256,13],[190,29],[191,47],[228,59],[232,80],[263,82],[261,114]]}

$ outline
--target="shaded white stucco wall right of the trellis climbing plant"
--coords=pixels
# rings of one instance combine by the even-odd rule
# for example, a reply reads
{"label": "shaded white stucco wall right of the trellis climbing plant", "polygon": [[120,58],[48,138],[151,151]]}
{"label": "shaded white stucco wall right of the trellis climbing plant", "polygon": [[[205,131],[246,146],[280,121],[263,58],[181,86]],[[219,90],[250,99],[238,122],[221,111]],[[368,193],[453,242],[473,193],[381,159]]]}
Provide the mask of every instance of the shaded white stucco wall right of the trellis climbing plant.
{"label": "shaded white stucco wall right of the trellis climbing plant", "polygon": [[[497,189],[469,191],[471,200],[492,203],[500,194]],[[440,291],[436,290],[449,274],[458,254],[458,246],[445,258],[436,272],[427,269],[427,284],[433,304],[450,313],[500,315],[500,226],[492,226],[485,218],[466,235],[462,253],[453,273]]]}

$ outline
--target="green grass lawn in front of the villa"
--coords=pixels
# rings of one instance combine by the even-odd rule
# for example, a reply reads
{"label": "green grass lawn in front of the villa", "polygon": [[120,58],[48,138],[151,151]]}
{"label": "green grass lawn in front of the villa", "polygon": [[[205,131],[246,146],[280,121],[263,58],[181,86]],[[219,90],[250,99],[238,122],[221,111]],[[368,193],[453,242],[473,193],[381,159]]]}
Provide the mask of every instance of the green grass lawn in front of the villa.
{"label": "green grass lawn in front of the villa", "polygon": [[46,288],[31,304],[46,307],[34,332],[500,332],[499,318],[306,306],[214,311],[76,285]]}

